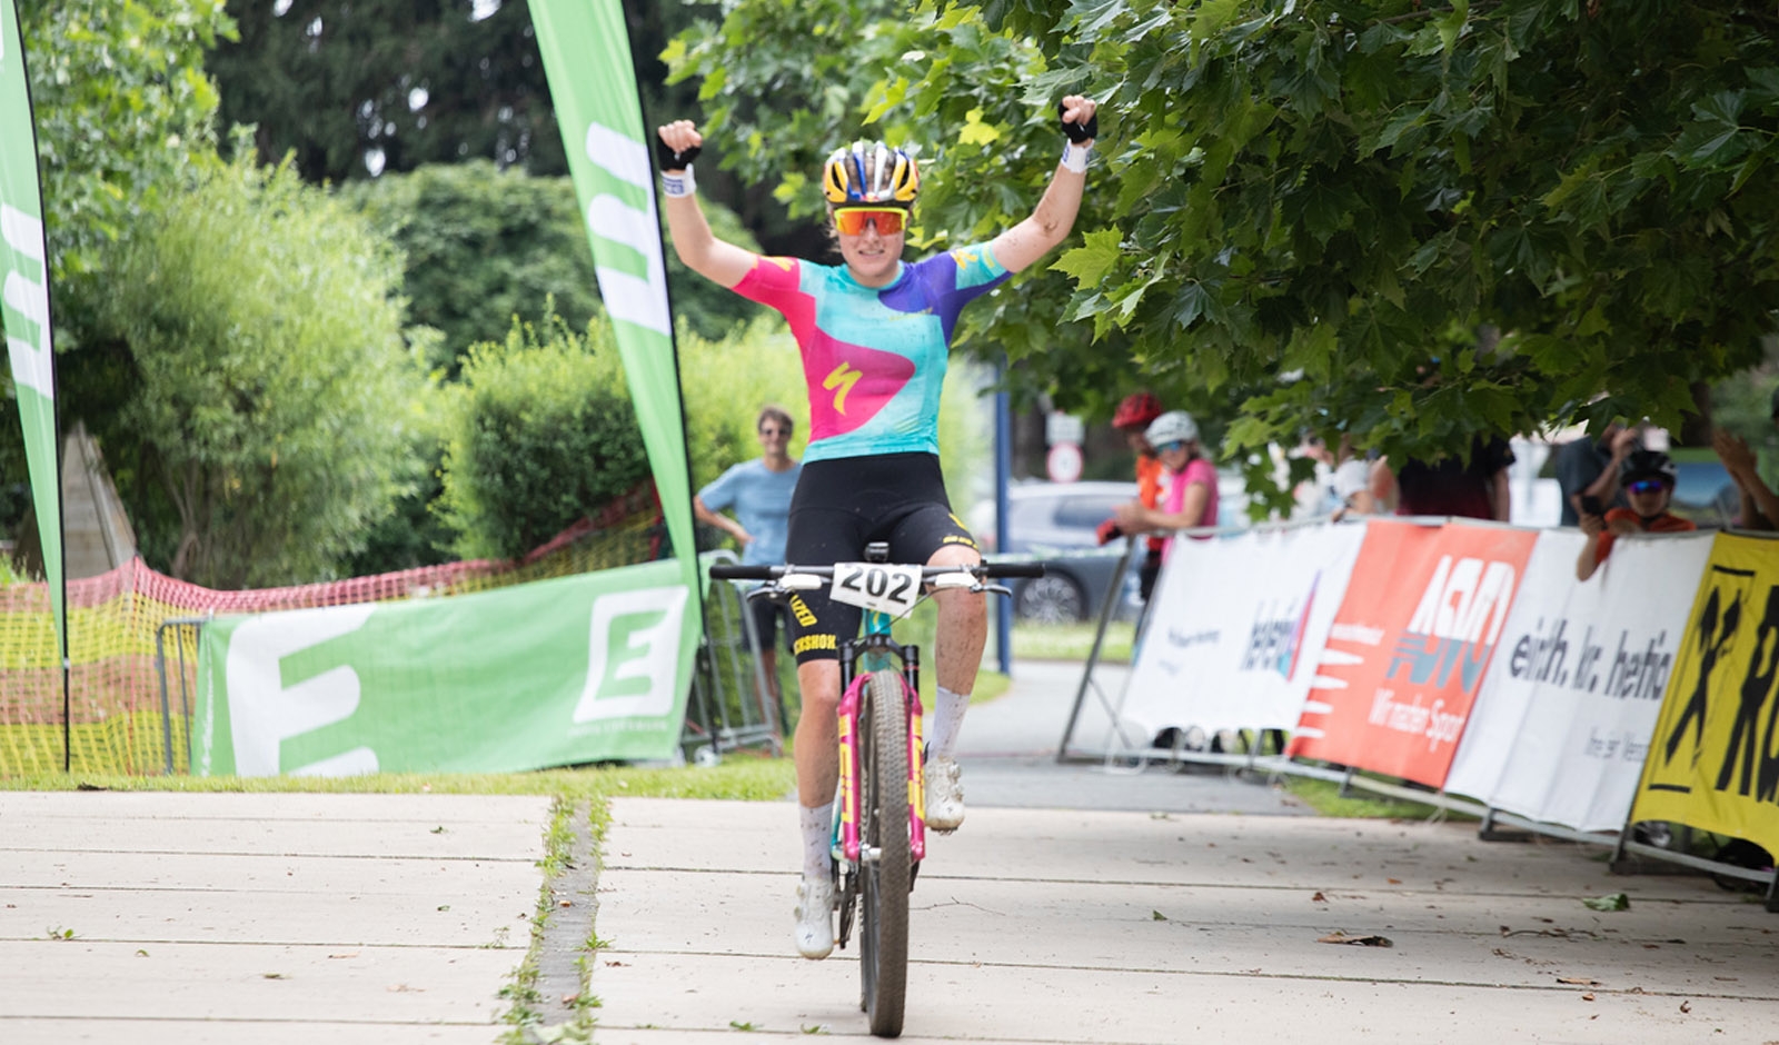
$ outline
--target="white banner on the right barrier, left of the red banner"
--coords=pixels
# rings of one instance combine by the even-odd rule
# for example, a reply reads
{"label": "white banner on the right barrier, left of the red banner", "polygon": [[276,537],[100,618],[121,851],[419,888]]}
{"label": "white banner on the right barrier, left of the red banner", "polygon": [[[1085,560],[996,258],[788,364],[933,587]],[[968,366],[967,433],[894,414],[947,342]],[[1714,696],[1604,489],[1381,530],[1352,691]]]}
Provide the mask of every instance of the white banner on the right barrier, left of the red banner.
{"label": "white banner on the right barrier, left of the red banner", "polygon": [[1363,540],[1363,526],[1176,540],[1121,709],[1126,736],[1297,725]]}

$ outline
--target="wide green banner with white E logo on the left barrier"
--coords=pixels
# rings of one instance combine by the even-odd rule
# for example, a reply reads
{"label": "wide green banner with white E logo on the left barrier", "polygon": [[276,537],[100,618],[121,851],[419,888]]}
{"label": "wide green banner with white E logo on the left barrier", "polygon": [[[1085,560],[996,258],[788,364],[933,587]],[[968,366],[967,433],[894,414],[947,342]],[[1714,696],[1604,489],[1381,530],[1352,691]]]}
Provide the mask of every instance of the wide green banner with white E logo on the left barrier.
{"label": "wide green banner with white E logo on the left barrier", "polygon": [[656,562],[205,626],[192,773],[507,773],[678,752],[697,647]]}

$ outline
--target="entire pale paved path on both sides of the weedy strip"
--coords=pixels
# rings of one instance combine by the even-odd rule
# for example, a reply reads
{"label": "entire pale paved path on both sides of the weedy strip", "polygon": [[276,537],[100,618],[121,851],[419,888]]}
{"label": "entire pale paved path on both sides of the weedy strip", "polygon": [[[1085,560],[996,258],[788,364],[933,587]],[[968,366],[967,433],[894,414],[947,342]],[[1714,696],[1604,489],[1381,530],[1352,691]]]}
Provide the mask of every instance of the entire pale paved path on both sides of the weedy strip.
{"label": "entire pale paved path on both sides of the weedy strip", "polygon": [[[1320,819],[1219,771],[1059,766],[1078,672],[1016,665],[971,709],[904,1041],[1779,1045],[1779,917],[1756,903],[1566,842]],[[1098,698],[1083,714],[1105,727]],[[0,793],[0,1045],[496,1041],[548,805]],[[795,816],[614,803],[596,1041],[868,1038],[856,949],[790,947]],[[1615,890],[1630,910],[1582,905]]]}

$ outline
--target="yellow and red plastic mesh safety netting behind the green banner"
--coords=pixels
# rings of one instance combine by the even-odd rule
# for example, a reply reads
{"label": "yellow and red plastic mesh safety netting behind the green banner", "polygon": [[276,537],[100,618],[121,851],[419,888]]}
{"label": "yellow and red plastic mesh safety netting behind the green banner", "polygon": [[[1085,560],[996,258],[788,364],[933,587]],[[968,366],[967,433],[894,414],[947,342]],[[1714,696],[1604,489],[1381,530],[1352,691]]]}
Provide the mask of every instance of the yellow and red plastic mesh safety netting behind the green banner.
{"label": "yellow and red plastic mesh safety netting behind the green banner", "polygon": [[0,586],[0,777],[183,771],[205,617],[461,595],[648,562],[662,542],[644,485],[518,562],[219,592],[133,560],[68,583],[66,707],[48,585]]}

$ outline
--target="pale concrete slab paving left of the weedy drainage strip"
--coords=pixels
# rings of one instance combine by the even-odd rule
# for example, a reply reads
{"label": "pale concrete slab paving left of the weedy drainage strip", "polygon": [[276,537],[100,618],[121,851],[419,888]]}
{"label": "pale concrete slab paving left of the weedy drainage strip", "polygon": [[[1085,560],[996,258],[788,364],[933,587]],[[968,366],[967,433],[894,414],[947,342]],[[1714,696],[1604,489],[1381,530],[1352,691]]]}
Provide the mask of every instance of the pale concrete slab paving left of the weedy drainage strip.
{"label": "pale concrete slab paving left of the weedy drainage strip", "polygon": [[0,793],[0,1041],[486,1045],[548,809]]}

